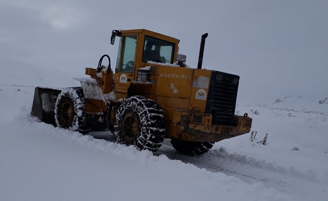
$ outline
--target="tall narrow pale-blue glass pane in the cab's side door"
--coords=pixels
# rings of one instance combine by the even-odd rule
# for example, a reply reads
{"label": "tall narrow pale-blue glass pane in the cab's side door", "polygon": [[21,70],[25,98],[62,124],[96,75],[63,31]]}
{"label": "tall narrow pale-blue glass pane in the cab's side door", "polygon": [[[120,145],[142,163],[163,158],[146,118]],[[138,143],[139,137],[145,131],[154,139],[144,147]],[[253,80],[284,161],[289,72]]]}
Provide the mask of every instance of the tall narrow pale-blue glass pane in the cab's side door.
{"label": "tall narrow pale-blue glass pane in the cab's side door", "polygon": [[137,35],[122,37],[122,58],[120,61],[120,72],[133,72],[136,45]]}

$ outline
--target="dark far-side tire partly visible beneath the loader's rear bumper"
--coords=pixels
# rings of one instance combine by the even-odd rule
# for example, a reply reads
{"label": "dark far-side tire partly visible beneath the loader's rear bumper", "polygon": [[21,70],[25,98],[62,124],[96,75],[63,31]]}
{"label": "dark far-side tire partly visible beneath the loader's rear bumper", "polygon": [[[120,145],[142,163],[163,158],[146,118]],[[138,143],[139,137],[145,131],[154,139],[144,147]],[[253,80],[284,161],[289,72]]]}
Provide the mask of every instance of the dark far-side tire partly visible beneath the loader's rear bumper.
{"label": "dark far-side tire partly visible beneath the loader's rear bumper", "polygon": [[199,156],[208,152],[214,145],[214,142],[186,142],[177,139],[171,139],[171,144],[177,152],[188,156]]}

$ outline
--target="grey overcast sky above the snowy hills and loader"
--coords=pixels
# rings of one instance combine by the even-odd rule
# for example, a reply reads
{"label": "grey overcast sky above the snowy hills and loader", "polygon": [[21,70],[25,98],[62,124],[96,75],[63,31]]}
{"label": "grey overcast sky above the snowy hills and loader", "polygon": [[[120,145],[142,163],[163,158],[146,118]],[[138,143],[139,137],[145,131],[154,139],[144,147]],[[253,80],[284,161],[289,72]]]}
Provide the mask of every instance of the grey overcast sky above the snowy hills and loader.
{"label": "grey overcast sky above the snowy hills and loader", "polygon": [[208,33],[203,68],[239,75],[239,101],[328,97],[326,0],[0,0],[0,57],[76,77],[103,54],[115,66],[113,29],[142,28],[180,39],[193,67]]}

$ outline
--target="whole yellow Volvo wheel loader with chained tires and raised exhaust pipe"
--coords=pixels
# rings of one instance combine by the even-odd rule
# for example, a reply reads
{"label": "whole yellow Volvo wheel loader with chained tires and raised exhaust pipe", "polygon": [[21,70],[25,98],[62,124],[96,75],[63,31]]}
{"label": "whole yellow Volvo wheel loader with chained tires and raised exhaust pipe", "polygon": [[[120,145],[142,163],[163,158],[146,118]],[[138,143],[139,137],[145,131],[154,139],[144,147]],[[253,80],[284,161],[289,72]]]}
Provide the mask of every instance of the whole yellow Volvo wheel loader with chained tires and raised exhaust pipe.
{"label": "whole yellow Volvo wheel loader with chained tires and raised exhaust pipe", "polygon": [[[178,54],[180,40],[145,29],[113,30],[119,38],[115,73],[103,55],[80,87],[35,88],[31,115],[87,134],[110,130],[118,143],[155,152],[165,138],[185,155],[201,155],[215,142],[249,133],[252,119],[235,115],[239,76],[202,69]],[[102,65],[103,59],[109,66]]]}

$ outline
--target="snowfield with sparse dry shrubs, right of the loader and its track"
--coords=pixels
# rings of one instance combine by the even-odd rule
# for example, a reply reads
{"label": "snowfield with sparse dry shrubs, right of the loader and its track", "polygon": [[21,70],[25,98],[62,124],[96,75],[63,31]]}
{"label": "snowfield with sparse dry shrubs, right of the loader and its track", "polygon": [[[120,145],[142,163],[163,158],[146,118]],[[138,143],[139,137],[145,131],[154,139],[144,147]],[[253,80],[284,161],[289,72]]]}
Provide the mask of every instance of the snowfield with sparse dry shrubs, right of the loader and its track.
{"label": "snowfield with sparse dry shrubs, right of the loader and its track", "polygon": [[[300,108],[299,105],[294,107]],[[311,105],[306,105],[305,108],[311,108]],[[224,147],[228,152],[236,152],[237,155],[231,155],[236,160],[252,156],[246,157],[244,162],[258,164],[261,168],[271,168],[272,171],[283,174],[328,183],[328,136],[325,135],[328,112],[322,107],[317,109],[312,111],[294,110],[290,107],[273,108],[271,105],[238,105],[236,112],[248,113],[249,117],[253,118],[251,130],[258,131],[254,143],[250,141],[251,134],[245,134],[220,141],[214,146]],[[259,115],[252,114],[251,110],[257,111]],[[267,133],[267,144],[257,144],[256,142],[261,141]],[[294,147],[299,150],[293,150]]]}

